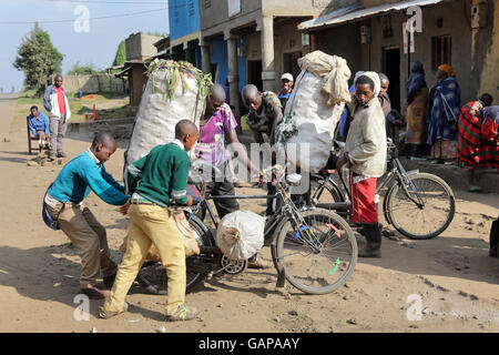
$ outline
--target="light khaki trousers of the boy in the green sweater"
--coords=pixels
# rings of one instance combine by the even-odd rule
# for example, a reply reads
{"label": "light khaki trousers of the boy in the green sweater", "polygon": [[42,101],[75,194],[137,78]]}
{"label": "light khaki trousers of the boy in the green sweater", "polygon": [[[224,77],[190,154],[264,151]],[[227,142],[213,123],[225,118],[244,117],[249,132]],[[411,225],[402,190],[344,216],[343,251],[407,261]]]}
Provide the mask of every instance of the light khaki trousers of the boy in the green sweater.
{"label": "light khaki trousers of the boy in the green sweater", "polygon": [[123,311],[125,296],[132,286],[151,244],[154,243],[166,268],[166,315],[173,315],[185,301],[185,248],[172,212],[159,205],[132,204],[129,210],[130,229],[126,252],[118,270],[104,310]]}

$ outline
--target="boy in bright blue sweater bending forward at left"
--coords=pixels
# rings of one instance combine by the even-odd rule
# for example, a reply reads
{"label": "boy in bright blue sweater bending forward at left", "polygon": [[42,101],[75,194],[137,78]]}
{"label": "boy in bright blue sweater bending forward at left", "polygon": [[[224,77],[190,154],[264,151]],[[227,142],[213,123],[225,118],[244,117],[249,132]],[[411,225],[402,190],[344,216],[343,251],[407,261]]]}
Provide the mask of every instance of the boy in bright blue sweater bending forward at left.
{"label": "boy in bright blue sweater bending forward at left", "polygon": [[[104,288],[112,286],[118,266],[110,257],[105,229],[82,202],[93,191],[109,204],[126,204],[130,196],[104,168],[115,150],[111,135],[96,135],[89,150],[64,165],[44,199],[48,212],[80,253],[80,291],[92,300],[109,294]],[[104,287],[96,283],[101,271]]]}

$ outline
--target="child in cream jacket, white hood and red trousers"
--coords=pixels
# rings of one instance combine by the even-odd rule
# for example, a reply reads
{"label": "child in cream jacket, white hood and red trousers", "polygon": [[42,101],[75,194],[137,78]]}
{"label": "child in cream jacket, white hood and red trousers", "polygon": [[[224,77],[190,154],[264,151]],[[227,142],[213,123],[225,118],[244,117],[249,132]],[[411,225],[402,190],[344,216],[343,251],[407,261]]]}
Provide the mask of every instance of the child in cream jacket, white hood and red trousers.
{"label": "child in cream jacket, white hood and red trousers", "polygon": [[355,99],[350,106],[353,121],[345,143],[345,153],[336,169],[348,164],[350,170],[350,220],[363,227],[366,247],[360,257],[381,256],[381,230],[376,210],[376,180],[386,169],[385,114],[379,103],[380,81],[376,72],[367,71],[355,80]]}

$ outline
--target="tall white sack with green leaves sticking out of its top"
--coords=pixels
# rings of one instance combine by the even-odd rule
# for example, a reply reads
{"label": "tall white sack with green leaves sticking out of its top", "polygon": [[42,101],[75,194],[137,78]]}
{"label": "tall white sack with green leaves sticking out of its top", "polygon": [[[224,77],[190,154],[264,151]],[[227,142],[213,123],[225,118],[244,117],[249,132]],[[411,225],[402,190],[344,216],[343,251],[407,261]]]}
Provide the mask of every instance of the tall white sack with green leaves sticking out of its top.
{"label": "tall white sack with green leaves sticking out of its top", "polygon": [[[181,75],[173,79],[172,68],[179,68],[184,80]],[[198,126],[210,85],[211,79],[190,63],[152,63],[125,152],[124,173],[154,146],[170,143],[175,138],[179,121],[191,120]]]}

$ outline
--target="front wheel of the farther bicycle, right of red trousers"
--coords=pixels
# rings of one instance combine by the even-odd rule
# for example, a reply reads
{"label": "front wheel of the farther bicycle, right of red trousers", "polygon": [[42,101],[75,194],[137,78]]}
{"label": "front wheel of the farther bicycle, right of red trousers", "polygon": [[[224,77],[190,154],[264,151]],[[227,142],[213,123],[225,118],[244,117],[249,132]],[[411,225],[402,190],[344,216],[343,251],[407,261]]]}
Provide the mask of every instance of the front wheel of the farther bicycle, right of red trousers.
{"label": "front wheel of the farther bicycle, right of red trousers", "polygon": [[[386,211],[394,227],[414,240],[428,240],[442,233],[452,222],[456,200],[452,190],[440,178],[417,173],[409,175],[414,184],[406,190],[394,184],[387,192]],[[419,199],[422,204],[418,205]]]}

